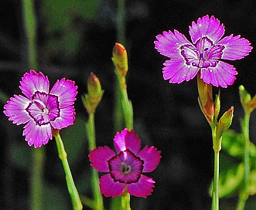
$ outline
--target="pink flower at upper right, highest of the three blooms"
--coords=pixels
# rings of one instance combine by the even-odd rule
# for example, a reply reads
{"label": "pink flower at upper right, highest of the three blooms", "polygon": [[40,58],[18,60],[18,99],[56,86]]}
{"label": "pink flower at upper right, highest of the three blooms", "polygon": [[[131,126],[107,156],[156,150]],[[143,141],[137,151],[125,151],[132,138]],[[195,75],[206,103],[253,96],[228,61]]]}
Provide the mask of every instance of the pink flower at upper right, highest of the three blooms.
{"label": "pink flower at upper right, highest of the three blooms", "polygon": [[240,36],[224,36],[224,25],[215,17],[203,16],[189,26],[191,42],[180,32],[156,36],[155,49],[170,59],[164,63],[163,77],[170,83],[189,81],[200,72],[204,83],[227,87],[237,74],[224,60],[242,59],[251,52],[251,43]]}

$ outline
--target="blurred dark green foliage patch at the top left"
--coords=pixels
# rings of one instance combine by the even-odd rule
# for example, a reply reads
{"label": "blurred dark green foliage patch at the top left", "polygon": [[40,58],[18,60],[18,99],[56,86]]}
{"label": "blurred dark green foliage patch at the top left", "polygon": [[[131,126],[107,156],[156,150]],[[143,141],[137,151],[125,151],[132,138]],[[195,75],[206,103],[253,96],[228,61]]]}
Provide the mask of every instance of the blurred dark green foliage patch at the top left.
{"label": "blurred dark green foliage patch at the top left", "polygon": [[40,13],[46,32],[46,50],[54,55],[73,57],[84,30],[76,25],[77,19],[94,20],[100,0],[45,0]]}

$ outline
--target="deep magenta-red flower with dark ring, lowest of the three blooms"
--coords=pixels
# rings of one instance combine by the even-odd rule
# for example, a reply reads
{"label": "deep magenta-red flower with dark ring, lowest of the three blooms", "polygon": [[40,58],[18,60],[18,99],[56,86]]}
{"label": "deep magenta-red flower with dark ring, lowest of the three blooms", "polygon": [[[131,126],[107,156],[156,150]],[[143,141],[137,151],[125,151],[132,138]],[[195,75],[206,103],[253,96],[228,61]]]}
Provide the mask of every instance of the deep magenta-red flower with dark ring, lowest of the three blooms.
{"label": "deep magenta-red flower with dark ring, lowest of the three blooms", "polygon": [[155,181],[142,173],[155,170],[161,158],[155,147],[144,147],[134,130],[126,128],[114,137],[115,154],[108,146],[98,147],[89,154],[91,165],[101,172],[108,172],[100,179],[101,193],[120,196],[126,188],[130,195],[146,198],[151,195]]}

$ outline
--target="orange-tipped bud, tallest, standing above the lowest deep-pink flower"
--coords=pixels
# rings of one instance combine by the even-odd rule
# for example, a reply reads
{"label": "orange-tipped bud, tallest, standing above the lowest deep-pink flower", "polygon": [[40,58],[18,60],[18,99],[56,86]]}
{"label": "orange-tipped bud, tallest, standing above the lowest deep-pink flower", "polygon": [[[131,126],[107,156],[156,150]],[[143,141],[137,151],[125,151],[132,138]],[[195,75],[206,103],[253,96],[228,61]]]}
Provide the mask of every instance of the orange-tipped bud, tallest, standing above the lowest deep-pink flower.
{"label": "orange-tipped bud, tallest, standing above the lowest deep-pink flower", "polygon": [[120,43],[115,43],[112,61],[115,67],[115,73],[117,73],[118,76],[126,76],[128,71],[127,51]]}

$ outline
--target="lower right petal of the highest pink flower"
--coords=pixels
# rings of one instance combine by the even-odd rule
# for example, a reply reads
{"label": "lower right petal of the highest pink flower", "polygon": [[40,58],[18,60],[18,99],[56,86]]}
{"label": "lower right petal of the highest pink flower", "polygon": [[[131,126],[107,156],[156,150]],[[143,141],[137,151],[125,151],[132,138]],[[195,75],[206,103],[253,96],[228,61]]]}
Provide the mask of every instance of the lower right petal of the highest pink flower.
{"label": "lower right petal of the highest pink flower", "polygon": [[237,74],[234,66],[228,63],[219,61],[217,66],[208,67],[207,69],[201,69],[201,79],[204,83],[212,84],[213,86],[227,87],[227,85],[232,85]]}

